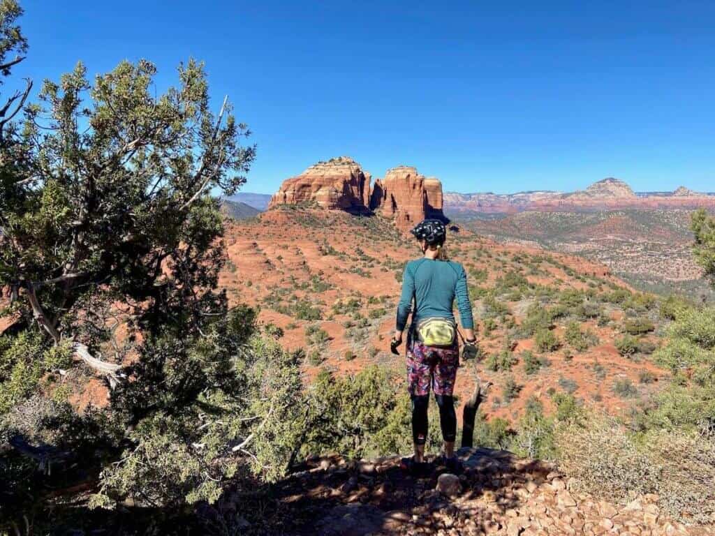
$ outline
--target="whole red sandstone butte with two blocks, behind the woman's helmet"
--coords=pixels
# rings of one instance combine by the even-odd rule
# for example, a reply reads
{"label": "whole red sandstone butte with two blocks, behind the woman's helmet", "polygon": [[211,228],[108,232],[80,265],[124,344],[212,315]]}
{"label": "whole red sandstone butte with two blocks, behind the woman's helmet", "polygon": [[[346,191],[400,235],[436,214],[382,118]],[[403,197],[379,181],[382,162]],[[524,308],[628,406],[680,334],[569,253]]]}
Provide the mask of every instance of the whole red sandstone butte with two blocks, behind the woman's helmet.
{"label": "whole red sandstone butte with two blocks, behind the woman's helmet", "polygon": [[370,174],[350,157],[318,162],[297,177],[286,179],[268,208],[303,203],[374,212],[393,219],[400,229],[408,229],[425,217],[444,219],[442,183],[436,177],[424,177],[415,167],[398,166],[370,187]]}

